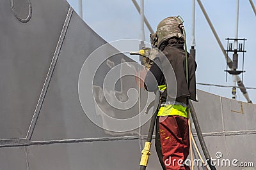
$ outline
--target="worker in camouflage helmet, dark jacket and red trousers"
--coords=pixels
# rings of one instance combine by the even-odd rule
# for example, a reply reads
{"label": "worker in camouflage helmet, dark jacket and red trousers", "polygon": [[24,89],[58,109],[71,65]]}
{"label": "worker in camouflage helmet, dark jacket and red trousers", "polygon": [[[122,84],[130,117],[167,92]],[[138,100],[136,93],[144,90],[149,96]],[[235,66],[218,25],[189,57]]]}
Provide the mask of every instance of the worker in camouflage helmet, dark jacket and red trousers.
{"label": "worker in camouflage helmet, dark jacket and red trousers", "polygon": [[[150,92],[156,92],[157,88],[162,93],[161,108],[157,114],[156,122],[156,151],[164,170],[189,169],[184,161],[189,155],[189,128],[188,128],[188,99],[196,101],[195,70],[196,62],[193,56],[188,56],[186,64],[186,52],[184,50],[184,27],[179,17],[164,18],[157,25],[155,34],[151,34],[152,45],[156,46],[168,59],[170,64],[164,64],[160,60],[161,67],[156,62],[150,67],[144,81],[144,87]],[[168,78],[164,77],[166,66],[172,66],[176,77],[177,89],[166,84]],[[186,67],[187,66],[187,67]],[[163,70],[162,70],[163,69]],[[188,69],[188,76],[186,76]],[[188,77],[188,81],[187,81]],[[156,83],[152,83],[157,81]],[[188,83],[187,83],[188,82]],[[168,87],[168,89],[167,89]],[[176,91],[175,101],[168,101]]]}

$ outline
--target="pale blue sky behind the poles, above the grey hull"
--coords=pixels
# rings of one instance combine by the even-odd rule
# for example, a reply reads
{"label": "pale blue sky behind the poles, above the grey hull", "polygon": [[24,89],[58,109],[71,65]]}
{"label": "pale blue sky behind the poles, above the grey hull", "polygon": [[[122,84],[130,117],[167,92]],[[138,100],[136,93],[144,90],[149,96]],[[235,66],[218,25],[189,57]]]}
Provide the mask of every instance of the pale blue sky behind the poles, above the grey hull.
{"label": "pale blue sky behind the poles, above the grey hull", "polygon": [[[166,17],[180,15],[184,19],[188,49],[191,47],[191,23],[193,0],[158,0],[144,1],[145,17],[152,29],[156,31],[157,24]],[[68,3],[78,13],[79,0],[68,0]],[[137,0],[140,4],[140,1]],[[256,5],[256,1],[253,0]],[[202,0],[209,18],[220,37],[224,48],[227,48],[225,38],[234,38],[236,32],[236,0]],[[106,41],[118,39],[141,39],[140,15],[131,0],[88,1],[83,0],[83,20]],[[244,85],[256,87],[255,63],[253,50],[256,43],[256,16],[247,0],[239,3],[239,31],[238,38],[246,38],[246,53],[244,54]],[[148,43],[150,32],[145,25],[145,41]],[[195,40],[196,40],[196,81],[217,85],[233,85],[232,76],[228,74],[226,81],[226,61],[220,46],[207,24],[200,6],[196,2],[195,12]],[[136,51],[136,50],[134,50]],[[229,53],[232,58],[232,54]],[[239,70],[242,69],[243,54],[239,54]],[[242,76],[240,76],[242,77]],[[231,98],[231,88],[196,85],[197,89],[211,92],[218,96]],[[253,103],[256,103],[256,90],[248,90]],[[246,101],[237,89],[237,100]]]}

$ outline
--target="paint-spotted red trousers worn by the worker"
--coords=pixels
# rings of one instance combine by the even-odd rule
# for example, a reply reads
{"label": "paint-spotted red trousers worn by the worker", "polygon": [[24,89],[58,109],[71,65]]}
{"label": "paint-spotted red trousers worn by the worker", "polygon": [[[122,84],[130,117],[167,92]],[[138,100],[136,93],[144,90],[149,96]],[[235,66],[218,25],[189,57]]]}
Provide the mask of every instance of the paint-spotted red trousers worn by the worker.
{"label": "paint-spotted red trousers worn by the worker", "polygon": [[180,166],[189,155],[188,118],[157,117],[156,150],[163,169],[189,170],[188,166]]}

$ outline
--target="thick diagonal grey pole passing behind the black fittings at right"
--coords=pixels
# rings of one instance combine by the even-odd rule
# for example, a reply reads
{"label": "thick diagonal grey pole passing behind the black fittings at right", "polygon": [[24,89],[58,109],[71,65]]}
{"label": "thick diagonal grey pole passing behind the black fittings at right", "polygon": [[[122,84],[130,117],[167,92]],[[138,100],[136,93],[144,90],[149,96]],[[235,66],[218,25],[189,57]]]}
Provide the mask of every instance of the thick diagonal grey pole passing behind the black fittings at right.
{"label": "thick diagonal grey pole passing behind the black fittings at right", "polygon": [[[211,27],[211,30],[212,30],[212,32],[213,32],[213,34],[214,34],[214,36],[215,36],[215,38],[216,38],[216,40],[217,40],[217,42],[218,42],[218,45],[219,45],[220,48],[221,48],[222,53],[223,53],[224,56],[225,56],[225,59],[226,59],[227,64],[228,64],[228,67],[232,70],[232,69],[233,69],[233,68],[232,68],[232,60],[230,59],[230,57],[228,57],[227,53],[225,52],[225,49],[224,49],[223,45],[221,44],[220,38],[218,37],[218,34],[216,33],[216,31],[215,31],[215,29],[214,29],[214,27],[213,27],[213,25],[212,25],[212,22],[211,22],[210,18],[208,17],[208,15],[207,15],[207,13],[206,13],[206,11],[205,11],[205,9],[204,9],[203,4],[201,3],[200,0],[197,0],[197,2],[198,2],[198,4],[199,4],[199,6],[200,6],[202,12],[204,13],[205,19],[207,20],[209,26]],[[237,76],[237,75],[236,75],[236,79],[237,79],[237,82],[238,82],[239,80],[241,81],[241,78],[240,78],[239,76]],[[237,83],[237,85],[239,86],[239,89],[240,89],[240,90],[241,90],[241,89],[245,89],[245,90],[246,90],[246,87],[244,87],[244,84],[243,84],[243,83]],[[248,93],[247,93],[247,92],[246,92],[246,94],[243,93],[243,95],[244,95],[244,97],[246,98],[246,100],[247,100],[248,103],[252,103],[252,101],[250,100],[250,97],[248,96]]]}

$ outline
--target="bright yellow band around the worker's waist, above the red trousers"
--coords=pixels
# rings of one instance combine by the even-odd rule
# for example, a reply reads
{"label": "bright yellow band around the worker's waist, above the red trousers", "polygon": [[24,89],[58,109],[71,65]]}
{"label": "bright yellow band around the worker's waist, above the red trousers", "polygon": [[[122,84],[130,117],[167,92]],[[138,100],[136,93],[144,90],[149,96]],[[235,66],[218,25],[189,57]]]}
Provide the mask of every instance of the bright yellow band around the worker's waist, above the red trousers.
{"label": "bright yellow band around the worker's waist, above the red trousers", "polygon": [[157,116],[160,116],[160,117],[173,116],[173,115],[188,118],[187,107],[184,107],[180,104],[175,104],[175,105],[168,104],[165,106],[161,106],[161,108],[157,113]]}

